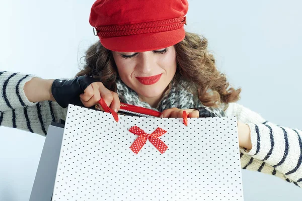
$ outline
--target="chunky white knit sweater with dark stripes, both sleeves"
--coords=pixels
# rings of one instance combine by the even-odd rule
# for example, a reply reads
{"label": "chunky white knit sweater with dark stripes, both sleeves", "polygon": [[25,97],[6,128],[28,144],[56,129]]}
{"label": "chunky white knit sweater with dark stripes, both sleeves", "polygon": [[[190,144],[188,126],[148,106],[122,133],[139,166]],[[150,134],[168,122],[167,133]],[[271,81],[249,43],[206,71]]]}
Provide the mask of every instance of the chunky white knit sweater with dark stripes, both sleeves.
{"label": "chunky white knit sweater with dark stripes, both sleeves", "polygon": [[[66,119],[56,102],[29,102],[23,87],[34,75],[0,71],[0,126],[46,135],[52,121]],[[230,103],[225,116],[236,116],[251,131],[252,149],[240,147],[243,169],[272,174],[302,187],[302,131],[275,125],[258,113]]]}

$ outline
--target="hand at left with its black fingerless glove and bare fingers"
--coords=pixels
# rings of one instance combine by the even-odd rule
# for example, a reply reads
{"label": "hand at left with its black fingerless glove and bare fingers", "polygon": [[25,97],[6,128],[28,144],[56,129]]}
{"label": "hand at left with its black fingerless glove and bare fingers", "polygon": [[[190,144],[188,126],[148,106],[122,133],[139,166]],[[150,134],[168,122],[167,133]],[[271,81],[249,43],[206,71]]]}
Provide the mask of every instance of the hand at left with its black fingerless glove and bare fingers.
{"label": "hand at left with its black fingerless glove and bare fingers", "polygon": [[120,108],[117,93],[110,91],[102,82],[91,76],[83,75],[68,80],[55,79],[51,93],[62,108],[66,108],[68,104],[90,108],[95,106],[101,97],[112,110],[118,111]]}

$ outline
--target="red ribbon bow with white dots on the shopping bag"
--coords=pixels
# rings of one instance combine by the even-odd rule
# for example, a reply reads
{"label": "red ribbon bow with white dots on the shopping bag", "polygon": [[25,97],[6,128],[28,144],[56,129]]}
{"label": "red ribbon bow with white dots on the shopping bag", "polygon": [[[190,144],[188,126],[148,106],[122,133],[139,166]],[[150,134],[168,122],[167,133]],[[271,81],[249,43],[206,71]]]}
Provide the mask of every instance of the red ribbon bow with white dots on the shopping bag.
{"label": "red ribbon bow with white dots on the shopping bag", "polygon": [[147,139],[152,143],[162,154],[168,149],[168,146],[158,137],[164,135],[167,131],[157,128],[152,134],[145,133],[142,129],[137,126],[132,126],[129,131],[136,135],[138,138],[130,146],[130,149],[137,154],[143,145],[146,143]]}

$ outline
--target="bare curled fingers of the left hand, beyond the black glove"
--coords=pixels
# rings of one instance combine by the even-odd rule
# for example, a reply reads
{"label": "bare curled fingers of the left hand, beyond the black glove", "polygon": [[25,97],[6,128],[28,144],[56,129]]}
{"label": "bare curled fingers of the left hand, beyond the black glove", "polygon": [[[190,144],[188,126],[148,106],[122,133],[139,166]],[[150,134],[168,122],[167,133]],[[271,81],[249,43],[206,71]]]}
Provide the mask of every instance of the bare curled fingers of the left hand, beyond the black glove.
{"label": "bare curled fingers of the left hand, beyond the black glove", "polygon": [[102,82],[93,82],[87,86],[84,93],[80,94],[81,102],[87,108],[95,106],[101,97],[114,112],[119,110],[120,100],[118,94],[107,89]]}

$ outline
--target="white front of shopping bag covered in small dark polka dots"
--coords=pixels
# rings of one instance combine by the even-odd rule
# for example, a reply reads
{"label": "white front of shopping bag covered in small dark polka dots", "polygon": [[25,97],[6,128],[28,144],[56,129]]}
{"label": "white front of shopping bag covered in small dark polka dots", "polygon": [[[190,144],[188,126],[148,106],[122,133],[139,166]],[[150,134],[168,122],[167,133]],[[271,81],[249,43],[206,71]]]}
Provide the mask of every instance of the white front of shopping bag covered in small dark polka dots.
{"label": "white front of shopping bag covered in small dark polka dots", "polygon": [[[52,200],[242,201],[236,121],[188,118],[185,126],[182,118],[119,115],[115,122],[109,113],[69,105]],[[149,134],[138,154],[129,148],[139,137],[129,132],[133,126]],[[162,154],[151,139],[169,148]]]}

